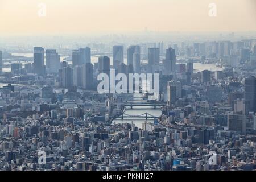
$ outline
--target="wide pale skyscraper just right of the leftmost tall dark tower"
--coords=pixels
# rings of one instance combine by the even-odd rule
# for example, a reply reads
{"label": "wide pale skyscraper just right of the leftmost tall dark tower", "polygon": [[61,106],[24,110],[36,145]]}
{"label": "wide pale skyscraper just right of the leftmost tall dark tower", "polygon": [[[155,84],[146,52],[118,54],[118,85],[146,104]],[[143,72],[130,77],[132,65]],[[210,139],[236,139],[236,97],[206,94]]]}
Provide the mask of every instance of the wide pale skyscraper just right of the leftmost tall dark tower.
{"label": "wide pale skyscraper just right of the leftmost tall dark tower", "polygon": [[49,73],[57,73],[60,69],[60,55],[53,49],[46,50],[46,68]]}

